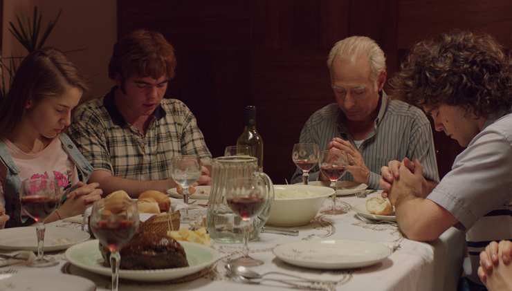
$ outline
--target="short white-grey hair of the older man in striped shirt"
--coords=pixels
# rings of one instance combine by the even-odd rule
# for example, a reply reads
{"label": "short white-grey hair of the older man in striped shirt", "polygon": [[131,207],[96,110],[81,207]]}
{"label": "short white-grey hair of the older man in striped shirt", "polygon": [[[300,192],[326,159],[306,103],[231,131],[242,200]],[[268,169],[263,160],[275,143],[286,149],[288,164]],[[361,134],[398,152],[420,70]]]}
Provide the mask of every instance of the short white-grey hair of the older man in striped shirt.
{"label": "short white-grey hair of the older man in striped shirt", "polygon": [[347,37],[338,41],[331,52],[329,59],[327,59],[327,66],[331,72],[332,77],[332,64],[336,56],[351,64],[356,62],[357,57],[366,54],[369,60],[370,79],[374,81],[375,91],[377,90],[378,75],[386,69],[386,58],[380,46],[369,37]]}

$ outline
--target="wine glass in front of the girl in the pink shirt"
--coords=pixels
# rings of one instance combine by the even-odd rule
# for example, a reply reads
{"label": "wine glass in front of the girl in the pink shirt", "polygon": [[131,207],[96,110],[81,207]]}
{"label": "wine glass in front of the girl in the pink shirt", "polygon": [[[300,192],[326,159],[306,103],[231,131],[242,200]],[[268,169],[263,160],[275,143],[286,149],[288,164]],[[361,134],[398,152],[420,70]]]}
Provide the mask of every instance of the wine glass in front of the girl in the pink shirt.
{"label": "wine glass in front of the girl in the pink shirt", "polygon": [[60,196],[59,184],[53,179],[35,178],[21,182],[21,209],[37,223],[37,259],[27,262],[26,265],[29,267],[51,267],[59,264],[44,259],[44,220],[55,212],[60,203]]}

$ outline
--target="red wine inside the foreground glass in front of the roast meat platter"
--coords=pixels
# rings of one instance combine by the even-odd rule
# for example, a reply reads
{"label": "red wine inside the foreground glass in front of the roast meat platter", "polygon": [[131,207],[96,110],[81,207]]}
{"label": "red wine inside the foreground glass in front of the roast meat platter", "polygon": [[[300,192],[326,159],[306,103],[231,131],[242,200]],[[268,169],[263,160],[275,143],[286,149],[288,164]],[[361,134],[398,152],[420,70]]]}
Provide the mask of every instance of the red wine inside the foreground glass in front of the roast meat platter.
{"label": "red wine inside the foreground glass in front of the roast meat platter", "polygon": [[91,228],[96,238],[107,245],[111,252],[121,250],[137,231],[131,220],[100,220]]}

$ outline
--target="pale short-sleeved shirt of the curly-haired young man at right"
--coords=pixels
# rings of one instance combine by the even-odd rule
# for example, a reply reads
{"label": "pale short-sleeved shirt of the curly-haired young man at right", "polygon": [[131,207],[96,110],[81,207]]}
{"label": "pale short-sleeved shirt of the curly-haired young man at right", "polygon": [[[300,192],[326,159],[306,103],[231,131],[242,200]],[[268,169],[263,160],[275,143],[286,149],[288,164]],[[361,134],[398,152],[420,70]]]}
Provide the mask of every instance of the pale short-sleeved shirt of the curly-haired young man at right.
{"label": "pale short-sleeved shirt of the curly-haired young man at right", "polygon": [[479,284],[480,252],[491,241],[512,239],[512,110],[499,116],[486,121],[427,196],[467,229],[471,268],[464,271]]}

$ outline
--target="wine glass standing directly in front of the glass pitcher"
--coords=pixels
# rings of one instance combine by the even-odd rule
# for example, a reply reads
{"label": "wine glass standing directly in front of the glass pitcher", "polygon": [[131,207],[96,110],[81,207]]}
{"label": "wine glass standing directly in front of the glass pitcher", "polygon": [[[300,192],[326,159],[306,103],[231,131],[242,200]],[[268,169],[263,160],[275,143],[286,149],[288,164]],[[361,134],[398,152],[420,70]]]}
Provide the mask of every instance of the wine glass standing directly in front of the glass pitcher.
{"label": "wine glass standing directly in front of the glass pitcher", "polygon": [[235,178],[228,180],[226,186],[226,202],[237,216],[242,220],[242,232],[244,234],[244,252],[238,259],[229,263],[244,267],[262,265],[263,261],[253,259],[249,256],[249,234],[252,227],[251,220],[262,212],[268,191],[258,178]]}

